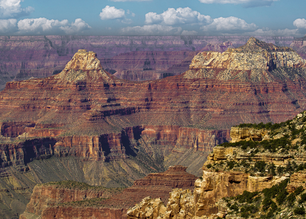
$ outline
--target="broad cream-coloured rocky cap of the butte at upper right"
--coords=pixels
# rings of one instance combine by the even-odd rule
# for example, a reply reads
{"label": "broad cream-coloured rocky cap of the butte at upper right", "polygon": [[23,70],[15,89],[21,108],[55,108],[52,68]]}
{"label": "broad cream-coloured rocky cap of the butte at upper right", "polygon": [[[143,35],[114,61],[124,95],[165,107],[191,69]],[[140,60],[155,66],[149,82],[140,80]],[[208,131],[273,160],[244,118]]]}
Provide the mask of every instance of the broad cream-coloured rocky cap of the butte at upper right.
{"label": "broad cream-coloured rocky cap of the butte at upper right", "polygon": [[[256,61],[255,61],[256,60]],[[208,78],[221,81],[239,80],[252,83],[270,83],[282,80],[280,71],[287,71],[291,80],[303,78],[306,61],[288,47],[277,47],[251,37],[239,48],[229,48],[226,52],[203,52],[194,57],[185,78]],[[290,73],[289,73],[290,72]]]}

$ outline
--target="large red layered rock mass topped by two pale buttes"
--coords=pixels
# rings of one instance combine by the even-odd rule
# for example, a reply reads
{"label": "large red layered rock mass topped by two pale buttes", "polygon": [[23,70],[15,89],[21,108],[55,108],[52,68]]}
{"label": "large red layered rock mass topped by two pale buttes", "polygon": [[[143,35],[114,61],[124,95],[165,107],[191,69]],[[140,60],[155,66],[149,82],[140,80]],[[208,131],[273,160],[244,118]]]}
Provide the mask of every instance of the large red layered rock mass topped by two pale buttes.
{"label": "large red layered rock mass topped by two pale buttes", "polygon": [[255,38],[144,82],[118,79],[80,50],[59,74],[8,82],[0,93],[2,214],[18,217],[37,183],[131,186],[170,165],[199,176],[232,126],[305,109],[305,85],[298,54]]}

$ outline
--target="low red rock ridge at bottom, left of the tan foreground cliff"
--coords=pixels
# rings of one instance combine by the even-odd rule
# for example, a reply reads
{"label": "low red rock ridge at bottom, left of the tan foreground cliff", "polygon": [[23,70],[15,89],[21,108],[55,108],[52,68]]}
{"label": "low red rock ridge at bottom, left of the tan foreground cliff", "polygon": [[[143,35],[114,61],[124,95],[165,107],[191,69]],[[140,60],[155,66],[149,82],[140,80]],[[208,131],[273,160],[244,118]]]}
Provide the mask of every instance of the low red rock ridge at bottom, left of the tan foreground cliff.
{"label": "low red rock ridge at bottom, left of the tan foreground cliff", "polygon": [[[128,208],[151,196],[168,200],[173,188],[194,188],[197,179],[184,166],[170,166],[163,173],[149,174],[130,188],[107,189],[73,181],[36,185],[31,201],[20,219],[46,218],[126,218]],[[82,210],[81,210],[82,209]]]}

